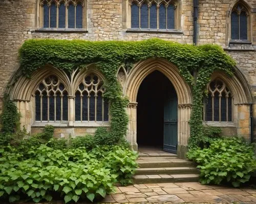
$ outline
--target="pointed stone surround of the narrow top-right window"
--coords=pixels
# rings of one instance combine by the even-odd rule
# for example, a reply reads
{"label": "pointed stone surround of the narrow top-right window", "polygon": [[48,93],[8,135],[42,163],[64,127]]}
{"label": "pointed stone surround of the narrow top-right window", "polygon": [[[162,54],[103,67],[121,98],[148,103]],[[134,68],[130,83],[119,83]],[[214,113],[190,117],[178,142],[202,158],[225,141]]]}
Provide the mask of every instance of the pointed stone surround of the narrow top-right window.
{"label": "pointed stone surround of the narrow top-right window", "polygon": [[[231,14],[234,10],[236,10],[237,6],[241,5],[247,13],[247,40],[238,40],[238,39],[231,39]],[[252,43],[252,25],[253,25],[253,15],[251,12],[251,7],[248,5],[243,0],[238,0],[236,1],[231,7],[230,10],[228,11],[227,15],[227,31],[226,31],[226,40],[227,40],[227,45],[228,44],[251,44]]]}

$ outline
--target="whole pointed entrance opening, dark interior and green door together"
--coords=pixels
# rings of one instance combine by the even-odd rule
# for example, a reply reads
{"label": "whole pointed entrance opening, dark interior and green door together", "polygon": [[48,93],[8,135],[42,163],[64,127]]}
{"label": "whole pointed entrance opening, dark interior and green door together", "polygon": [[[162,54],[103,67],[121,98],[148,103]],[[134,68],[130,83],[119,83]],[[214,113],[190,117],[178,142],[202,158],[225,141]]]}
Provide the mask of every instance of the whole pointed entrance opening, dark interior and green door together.
{"label": "whole pointed entrance opening, dark interior and green door together", "polygon": [[170,80],[159,71],[147,75],[140,84],[137,103],[138,146],[176,153],[178,99]]}

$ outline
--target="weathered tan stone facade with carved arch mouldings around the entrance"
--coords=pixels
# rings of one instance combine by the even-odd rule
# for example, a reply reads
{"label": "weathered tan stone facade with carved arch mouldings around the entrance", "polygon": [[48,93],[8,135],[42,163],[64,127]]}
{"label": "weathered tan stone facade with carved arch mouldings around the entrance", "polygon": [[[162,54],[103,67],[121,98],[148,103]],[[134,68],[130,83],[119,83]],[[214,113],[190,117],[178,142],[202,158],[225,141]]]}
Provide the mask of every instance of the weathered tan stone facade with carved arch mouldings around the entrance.
{"label": "weathered tan stone facade with carved arch mouldings around the entrance", "polygon": [[[148,5],[160,4],[161,1],[128,1],[128,0],[85,0],[83,4],[82,28],[79,29],[54,29],[42,28],[42,10],[39,0],[0,0],[0,109],[3,105],[3,95],[12,76],[19,68],[18,49],[27,39],[84,39],[84,40],[143,40],[149,38],[161,38],[164,40],[179,43],[193,44],[218,44],[228,55],[237,61],[237,73],[234,79],[229,80],[221,73],[215,73],[215,78],[223,79],[225,85],[229,87],[234,97],[232,107],[232,119],[229,123],[225,122],[205,122],[209,125],[221,126],[224,134],[239,134],[250,140],[253,133],[256,135],[256,1],[255,0],[177,0],[171,1],[175,5],[175,28],[174,29],[134,29],[131,26],[131,4]],[[50,3],[51,1],[48,1]],[[58,2],[58,1],[56,1]],[[69,1],[65,1],[66,3]],[[169,2],[169,1],[163,1]],[[196,6],[195,6],[196,2]],[[44,4],[44,3],[42,3]],[[247,31],[246,40],[232,39],[231,15],[237,6],[243,7],[246,11]],[[198,11],[196,29],[195,27],[195,7]],[[238,9],[239,10],[239,9]],[[149,18],[150,19],[150,18]],[[242,18],[241,18],[242,19]],[[141,18],[142,21],[142,18]],[[241,21],[242,22],[242,21]],[[159,22],[158,22],[159,23]],[[160,24],[160,23],[159,23]],[[242,23],[240,25],[243,26]],[[195,38],[196,30],[196,38]],[[242,34],[241,34],[242,35]],[[154,68],[153,65],[156,67]],[[159,65],[160,64],[160,65]],[[133,82],[134,79],[146,77],[151,69],[158,70],[165,74],[173,83],[174,87],[184,86],[178,96],[178,144],[187,145],[189,137],[189,115],[192,97],[188,96],[191,91],[182,81],[180,76],[177,78],[178,71],[172,73],[165,72],[165,67],[173,65],[166,64],[164,61],[148,60],[135,65],[132,72],[126,73],[125,70],[117,74],[122,78],[123,93],[130,97],[130,105],[127,112],[130,116],[129,140],[137,148],[136,132],[136,97],[139,85]],[[147,71],[143,71],[142,68]],[[158,67],[158,68],[157,68]],[[177,73],[176,73],[177,72]],[[180,78],[179,78],[180,77]],[[174,80],[174,81],[172,81]],[[176,83],[176,82],[177,83]],[[141,82],[140,82],[141,83]],[[175,84],[176,83],[176,84]],[[27,84],[29,85],[29,83]],[[182,93],[187,94],[187,98],[182,99]],[[237,94],[237,96],[234,96]],[[12,96],[15,96],[12,95]],[[179,99],[180,97],[180,99]],[[17,101],[17,106],[22,113],[22,124],[28,131],[40,131],[41,126],[34,125],[33,109],[34,105],[22,99],[12,98]],[[183,102],[182,102],[183,100]],[[252,105],[251,105],[252,104]],[[252,106],[252,107],[251,107]],[[253,120],[251,121],[250,111],[253,110]],[[228,120],[227,120],[228,121]],[[254,127],[252,128],[254,124]],[[108,124],[106,124],[108,126]],[[69,134],[81,135],[93,133],[96,126],[88,127],[69,127],[57,126],[56,135]],[[254,129],[254,131],[253,131]]]}

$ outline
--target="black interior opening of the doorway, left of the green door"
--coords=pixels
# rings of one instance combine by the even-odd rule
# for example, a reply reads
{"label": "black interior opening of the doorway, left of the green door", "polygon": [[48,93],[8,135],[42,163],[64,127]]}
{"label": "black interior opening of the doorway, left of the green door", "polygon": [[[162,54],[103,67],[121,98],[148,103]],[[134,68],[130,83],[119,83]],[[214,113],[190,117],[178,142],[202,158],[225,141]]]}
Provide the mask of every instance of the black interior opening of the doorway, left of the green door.
{"label": "black interior opening of the doorway, left of the green door", "polygon": [[137,95],[137,143],[139,147],[163,148],[164,101],[170,93],[177,97],[173,84],[159,71],[154,71],[142,81]]}

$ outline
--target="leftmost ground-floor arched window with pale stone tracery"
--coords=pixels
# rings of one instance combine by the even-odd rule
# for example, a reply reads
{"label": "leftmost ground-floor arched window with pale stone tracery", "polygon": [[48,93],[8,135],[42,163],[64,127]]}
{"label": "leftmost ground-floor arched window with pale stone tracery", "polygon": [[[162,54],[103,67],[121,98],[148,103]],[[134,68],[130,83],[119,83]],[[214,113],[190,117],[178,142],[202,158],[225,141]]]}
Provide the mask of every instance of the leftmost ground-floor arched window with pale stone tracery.
{"label": "leftmost ground-floor arched window with pale stone tracery", "polygon": [[68,92],[63,83],[48,76],[35,91],[36,121],[68,121]]}

